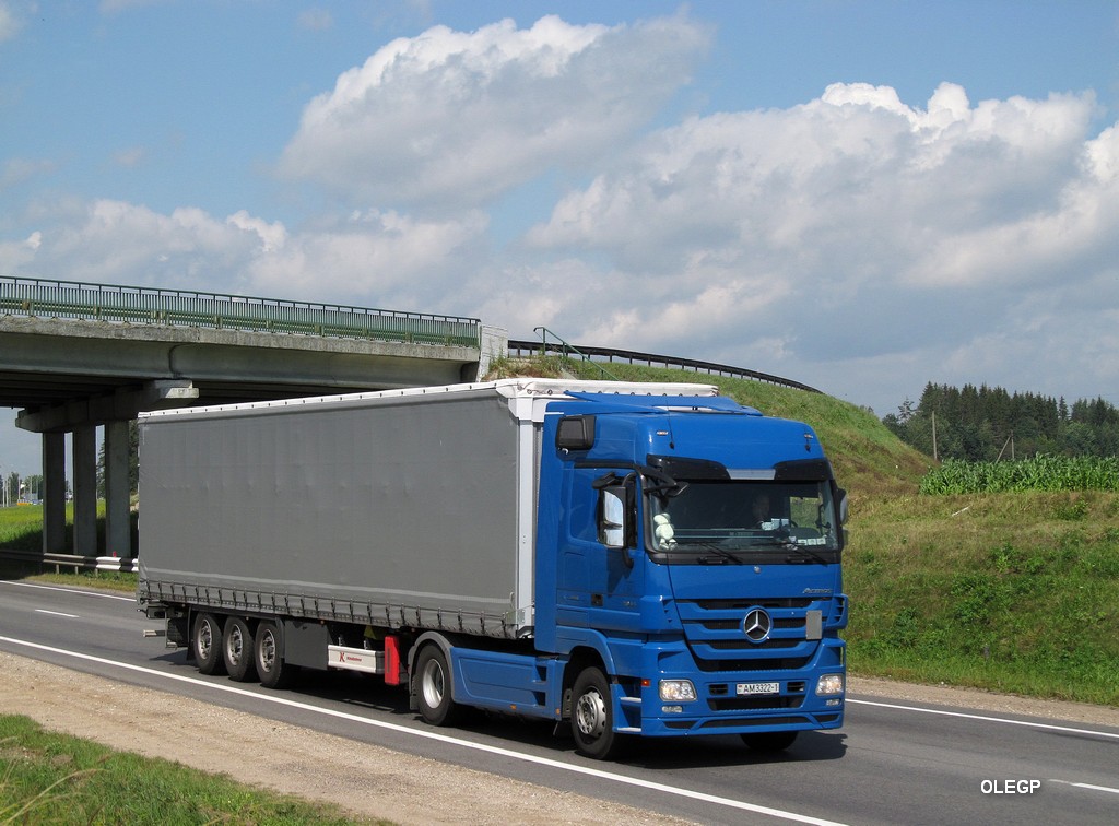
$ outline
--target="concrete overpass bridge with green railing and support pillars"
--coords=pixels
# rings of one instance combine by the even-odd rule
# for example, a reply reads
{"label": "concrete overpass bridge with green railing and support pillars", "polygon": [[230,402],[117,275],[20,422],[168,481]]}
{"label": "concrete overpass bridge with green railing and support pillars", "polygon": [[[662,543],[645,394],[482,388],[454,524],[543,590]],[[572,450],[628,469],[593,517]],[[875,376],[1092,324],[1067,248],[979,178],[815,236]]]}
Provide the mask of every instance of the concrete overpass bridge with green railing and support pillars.
{"label": "concrete overpass bridge with green railing and support pillars", "polygon": [[[196,404],[471,382],[507,350],[478,319],[0,276],[0,407],[43,437],[44,553],[132,557],[129,421]],[[96,429],[105,543],[96,547]]]}

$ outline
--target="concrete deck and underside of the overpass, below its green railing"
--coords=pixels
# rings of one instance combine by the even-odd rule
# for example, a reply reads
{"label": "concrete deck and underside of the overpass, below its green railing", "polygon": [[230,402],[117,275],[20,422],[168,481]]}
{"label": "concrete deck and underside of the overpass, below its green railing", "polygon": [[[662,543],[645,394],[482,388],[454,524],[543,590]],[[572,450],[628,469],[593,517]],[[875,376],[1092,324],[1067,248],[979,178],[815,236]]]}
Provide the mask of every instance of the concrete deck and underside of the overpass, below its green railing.
{"label": "concrete deck and underside of the overpass, below its green railing", "polygon": [[28,412],[152,382],[189,384],[195,404],[454,384],[478,363],[472,347],[0,318],[0,406]]}

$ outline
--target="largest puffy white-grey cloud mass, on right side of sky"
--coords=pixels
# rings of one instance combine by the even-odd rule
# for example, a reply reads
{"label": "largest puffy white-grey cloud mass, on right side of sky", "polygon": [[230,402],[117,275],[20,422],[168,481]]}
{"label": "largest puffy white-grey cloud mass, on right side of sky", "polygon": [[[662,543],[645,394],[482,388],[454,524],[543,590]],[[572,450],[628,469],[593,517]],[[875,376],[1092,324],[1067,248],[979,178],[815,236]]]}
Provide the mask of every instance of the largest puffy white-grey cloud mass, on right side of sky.
{"label": "largest puffy white-grey cloud mass, on right side of sky", "polygon": [[[651,135],[526,241],[593,254],[619,284],[556,321],[575,340],[731,364],[780,342],[778,363],[747,366],[809,383],[824,364],[914,351],[931,370],[937,353],[1013,338],[1024,292],[1092,280],[1119,304],[1104,275],[1119,261],[1119,139],[1088,139],[1093,114],[1090,94],[971,105],[944,84],[921,110],[836,84]],[[1061,323],[1078,320],[1042,340]]]}

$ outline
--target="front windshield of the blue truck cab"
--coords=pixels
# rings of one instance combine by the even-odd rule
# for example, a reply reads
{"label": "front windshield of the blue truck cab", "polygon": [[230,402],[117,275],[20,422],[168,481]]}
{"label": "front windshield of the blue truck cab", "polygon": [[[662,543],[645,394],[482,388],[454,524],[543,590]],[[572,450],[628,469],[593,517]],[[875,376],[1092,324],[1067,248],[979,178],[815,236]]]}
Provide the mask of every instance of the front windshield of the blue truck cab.
{"label": "front windshield of the blue truck cab", "polygon": [[839,550],[827,481],[689,480],[674,492],[647,499],[655,554],[731,554],[744,561],[739,552],[815,557]]}

